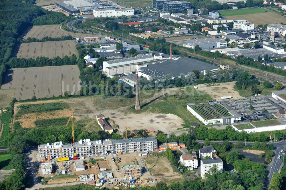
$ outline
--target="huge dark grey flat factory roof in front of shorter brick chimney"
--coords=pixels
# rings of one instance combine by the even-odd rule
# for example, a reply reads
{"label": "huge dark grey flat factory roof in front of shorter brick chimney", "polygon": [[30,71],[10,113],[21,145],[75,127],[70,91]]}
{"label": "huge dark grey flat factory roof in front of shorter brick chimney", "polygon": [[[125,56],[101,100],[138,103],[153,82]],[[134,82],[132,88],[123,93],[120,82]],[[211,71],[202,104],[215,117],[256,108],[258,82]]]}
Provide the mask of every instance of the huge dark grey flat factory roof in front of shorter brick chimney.
{"label": "huge dark grey flat factory roof in front of shorter brick chimney", "polygon": [[188,57],[182,57],[178,60],[168,59],[167,61],[148,64],[148,67],[142,67],[141,73],[152,76],[163,76],[166,74],[171,74],[172,76],[179,76],[181,73],[187,75],[194,69],[199,71],[210,71],[213,69],[218,69],[215,65],[210,65],[196,59],[190,59]]}

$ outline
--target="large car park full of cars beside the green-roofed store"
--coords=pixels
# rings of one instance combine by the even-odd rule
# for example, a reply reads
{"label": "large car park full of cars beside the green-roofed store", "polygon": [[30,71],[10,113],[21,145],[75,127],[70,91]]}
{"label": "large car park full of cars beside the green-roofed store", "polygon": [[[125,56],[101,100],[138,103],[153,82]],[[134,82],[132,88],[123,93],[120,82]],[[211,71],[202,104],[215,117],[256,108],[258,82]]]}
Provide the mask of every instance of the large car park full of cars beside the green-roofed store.
{"label": "large car park full of cars beside the green-roofed store", "polygon": [[285,108],[285,105],[277,102],[271,95],[223,100],[221,104],[239,113],[243,117],[242,121],[245,122],[271,118],[278,109]]}

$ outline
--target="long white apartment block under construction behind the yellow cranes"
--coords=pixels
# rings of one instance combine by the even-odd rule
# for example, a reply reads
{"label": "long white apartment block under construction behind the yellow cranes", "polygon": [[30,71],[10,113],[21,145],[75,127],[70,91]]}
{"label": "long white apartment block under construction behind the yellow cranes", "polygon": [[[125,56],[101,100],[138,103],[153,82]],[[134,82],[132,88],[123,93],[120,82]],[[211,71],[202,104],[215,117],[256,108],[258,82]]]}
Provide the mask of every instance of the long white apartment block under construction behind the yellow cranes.
{"label": "long white apartment block under construction behind the yellow cranes", "polygon": [[[107,153],[128,153],[146,152],[157,149],[157,139],[155,137],[121,139],[104,141],[90,141],[90,139],[80,140],[74,144],[62,144],[55,142],[52,144],[38,145],[40,157],[74,157],[74,153],[79,156],[99,156]],[[62,153],[61,153],[62,151]]]}

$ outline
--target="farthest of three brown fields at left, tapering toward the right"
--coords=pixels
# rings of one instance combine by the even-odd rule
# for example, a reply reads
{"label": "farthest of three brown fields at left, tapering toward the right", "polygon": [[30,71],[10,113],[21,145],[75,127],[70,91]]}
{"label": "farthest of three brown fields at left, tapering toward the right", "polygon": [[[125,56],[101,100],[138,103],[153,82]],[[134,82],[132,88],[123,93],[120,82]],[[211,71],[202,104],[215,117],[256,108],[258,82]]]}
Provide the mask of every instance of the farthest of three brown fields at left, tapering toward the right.
{"label": "farthest of three brown fields at left, tapering toward the right", "polygon": [[84,37],[93,37],[98,35],[92,34],[82,34],[82,33],[73,33],[67,32],[59,28],[60,25],[40,25],[40,26],[33,26],[32,28],[27,29],[24,32],[22,37],[27,39],[28,37],[42,39],[43,37],[61,37],[61,36],[68,36],[71,35],[74,38],[84,38]]}

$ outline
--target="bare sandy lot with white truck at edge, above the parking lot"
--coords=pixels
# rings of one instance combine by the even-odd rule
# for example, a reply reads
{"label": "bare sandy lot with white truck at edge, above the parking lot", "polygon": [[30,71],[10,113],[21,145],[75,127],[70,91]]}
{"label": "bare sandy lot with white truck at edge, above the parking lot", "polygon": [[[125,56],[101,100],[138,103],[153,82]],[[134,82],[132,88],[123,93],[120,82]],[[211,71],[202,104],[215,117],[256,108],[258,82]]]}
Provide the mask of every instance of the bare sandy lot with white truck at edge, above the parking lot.
{"label": "bare sandy lot with white truck at edge, above the parking lot", "polygon": [[232,96],[233,98],[241,98],[238,91],[233,87],[234,82],[220,83],[220,85],[205,87],[204,84],[197,85],[199,91],[208,93],[212,98],[217,101],[220,100],[221,96]]}

